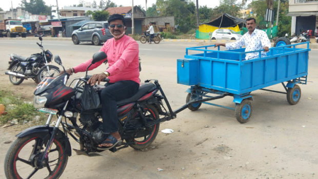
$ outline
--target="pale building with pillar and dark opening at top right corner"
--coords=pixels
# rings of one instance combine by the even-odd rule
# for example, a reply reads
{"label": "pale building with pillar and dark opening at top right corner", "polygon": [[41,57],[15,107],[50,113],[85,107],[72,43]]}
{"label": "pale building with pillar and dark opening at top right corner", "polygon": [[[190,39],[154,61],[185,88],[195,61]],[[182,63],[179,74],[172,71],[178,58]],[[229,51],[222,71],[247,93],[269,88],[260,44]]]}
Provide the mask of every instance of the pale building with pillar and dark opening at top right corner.
{"label": "pale building with pillar and dark opening at top right corner", "polygon": [[298,35],[302,30],[318,27],[318,0],[289,0],[291,35]]}

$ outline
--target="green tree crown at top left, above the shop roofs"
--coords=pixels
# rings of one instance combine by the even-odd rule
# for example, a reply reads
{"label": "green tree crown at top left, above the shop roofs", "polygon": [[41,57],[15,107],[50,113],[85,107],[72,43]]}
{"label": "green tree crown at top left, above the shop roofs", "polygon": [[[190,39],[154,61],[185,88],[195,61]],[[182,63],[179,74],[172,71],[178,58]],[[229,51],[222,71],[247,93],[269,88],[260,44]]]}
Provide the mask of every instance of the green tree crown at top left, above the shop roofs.
{"label": "green tree crown at top left, above the shop roofs", "polygon": [[32,14],[51,15],[51,7],[45,5],[43,0],[30,0],[30,3],[27,0],[22,0],[21,6]]}

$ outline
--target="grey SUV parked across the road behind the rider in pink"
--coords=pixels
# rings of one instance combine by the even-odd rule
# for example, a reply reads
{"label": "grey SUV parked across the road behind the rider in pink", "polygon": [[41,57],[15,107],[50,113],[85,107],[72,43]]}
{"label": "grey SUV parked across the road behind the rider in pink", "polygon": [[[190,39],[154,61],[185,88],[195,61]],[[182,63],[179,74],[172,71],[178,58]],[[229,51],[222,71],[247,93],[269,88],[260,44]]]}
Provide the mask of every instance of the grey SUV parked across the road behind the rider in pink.
{"label": "grey SUV parked across the road behind the rider in pink", "polygon": [[73,31],[72,41],[75,45],[80,42],[92,42],[94,45],[101,45],[101,43],[113,37],[108,26],[107,21],[85,23],[81,28]]}

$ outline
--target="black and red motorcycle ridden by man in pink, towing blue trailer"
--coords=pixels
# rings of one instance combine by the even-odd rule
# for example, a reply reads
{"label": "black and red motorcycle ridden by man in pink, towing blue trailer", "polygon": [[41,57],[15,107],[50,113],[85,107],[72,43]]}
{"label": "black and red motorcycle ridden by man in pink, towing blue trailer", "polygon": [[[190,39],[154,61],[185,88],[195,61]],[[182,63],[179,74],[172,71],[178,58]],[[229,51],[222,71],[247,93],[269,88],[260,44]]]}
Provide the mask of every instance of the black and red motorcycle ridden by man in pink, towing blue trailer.
{"label": "black and red motorcycle ridden by man in pink, towing blue trailer", "polygon": [[[106,57],[104,52],[97,52],[93,55],[90,65]],[[65,73],[56,77],[45,77],[34,91],[34,107],[40,108],[39,111],[49,115],[46,124],[28,128],[17,134],[17,139],[5,158],[7,178],[30,178],[35,175],[41,178],[61,176],[68,157],[71,156],[68,136],[79,143],[79,150],[73,149],[77,154],[96,156],[99,154],[95,152],[105,150],[98,147],[103,141],[101,135],[105,135],[102,134],[100,121],[101,107],[83,110],[80,102],[84,85],[90,77],[87,75],[90,66],[87,67],[84,77],[72,81],[75,82],[72,88],[66,86],[70,75],[66,73],[59,56],[55,56],[54,61],[63,67]],[[107,78],[104,81],[108,81]],[[94,90],[100,92],[104,87],[95,85]],[[157,93],[158,91],[161,95]],[[162,100],[166,102],[169,112],[166,111]],[[53,115],[57,116],[54,127],[50,126]],[[160,115],[163,117],[160,118]],[[77,123],[78,116],[80,124]],[[118,131],[123,142],[109,149],[112,152],[129,146],[136,150],[147,148],[154,141],[160,123],[176,117],[160,84],[155,79],[145,81],[132,97],[117,102],[117,116],[120,124]],[[63,119],[65,122],[62,121]],[[59,128],[60,126],[62,128]],[[45,175],[43,171],[46,172]]]}

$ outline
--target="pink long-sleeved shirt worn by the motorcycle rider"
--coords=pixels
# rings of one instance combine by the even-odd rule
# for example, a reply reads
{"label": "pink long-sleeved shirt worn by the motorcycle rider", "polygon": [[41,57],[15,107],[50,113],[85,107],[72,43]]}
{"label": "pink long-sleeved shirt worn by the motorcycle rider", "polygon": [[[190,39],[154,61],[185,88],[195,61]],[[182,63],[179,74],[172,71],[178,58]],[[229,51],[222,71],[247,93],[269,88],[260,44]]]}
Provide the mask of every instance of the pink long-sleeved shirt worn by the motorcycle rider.
{"label": "pink long-sleeved shirt worn by the motorcycle rider", "polygon": [[[131,80],[140,84],[139,79],[139,47],[138,43],[128,35],[115,41],[110,38],[106,41],[100,51],[107,54],[109,68],[107,71],[110,76],[109,82],[115,83],[123,80]],[[92,59],[74,67],[74,72],[86,71]],[[100,66],[104,61],[97,62],[89,67],[92,70]]]}

